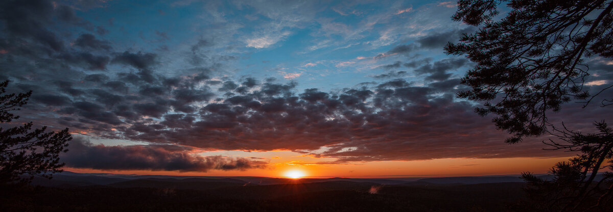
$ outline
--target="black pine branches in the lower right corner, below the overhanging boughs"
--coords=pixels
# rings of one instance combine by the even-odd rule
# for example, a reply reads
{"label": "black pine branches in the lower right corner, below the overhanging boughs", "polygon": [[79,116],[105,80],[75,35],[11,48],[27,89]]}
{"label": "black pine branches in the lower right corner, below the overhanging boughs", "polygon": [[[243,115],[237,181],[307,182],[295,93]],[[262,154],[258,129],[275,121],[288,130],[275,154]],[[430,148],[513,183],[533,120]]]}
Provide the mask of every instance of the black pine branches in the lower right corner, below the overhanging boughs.
{"label": "black pine branches in the lower right corner, below the overhanging boughs", "polygon": [[531,210],[601,211],[613,208],[613,172],[604,172],[602,178],[596,180],[599,170],[613,167],[613,130],[604,122],[594,125],[598,133],[565,130],[558,132],[562,142],[546,142],[552,149],[581,152],[569,161],[555,164],[550,170],[554,175],[552,181],[539,179],[529,172],[522,173],[522,178],[530,183],[527,191],[533,202],[528,204]]}

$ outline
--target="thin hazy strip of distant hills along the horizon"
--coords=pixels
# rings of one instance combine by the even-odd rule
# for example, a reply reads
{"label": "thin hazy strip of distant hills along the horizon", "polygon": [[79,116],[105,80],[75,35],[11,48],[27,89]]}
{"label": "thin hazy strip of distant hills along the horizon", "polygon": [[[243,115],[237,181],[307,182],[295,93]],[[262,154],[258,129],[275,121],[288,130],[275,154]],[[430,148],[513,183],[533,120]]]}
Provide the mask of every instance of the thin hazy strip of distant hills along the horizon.
{"label": "thin hazy strip of distant hills along the horizon", "polygon": [[[552,175],[539,175],[545,180],[551,180]],[[596,180],[603,176],[599,175]],[[300,183],[325,183],[330,181],[350,181],[355,183],[375,183],[379,185],[470,185],[481,183],[520,183],[519,177],[510,176],[481,176],[481,177],[436,177],[436,178],[270,178],[270,177],[194,177],[194,176],[166,176],[166,175],[113,175],[113,174],[80,174],[75,172],[62,172],[53,175],[53,179],[34,178],[32,185],[66,187],[66,186],[93,186],[109,185],[121,188],[139,187],[145,185],[154,186],[159,182],[162,187],[172,187],[172,183],[178,183],[177,188],[188,188],[182,184],[200,183],[202,188],[217,188],[214,183],[220,185],[286,185]],[[160,184],[161,183],[161,184]],[[130,186],[134,184],[134,186]],[[211,184],[211,185],[208,185]],[[150,187],[150,186],[147,186]]]}

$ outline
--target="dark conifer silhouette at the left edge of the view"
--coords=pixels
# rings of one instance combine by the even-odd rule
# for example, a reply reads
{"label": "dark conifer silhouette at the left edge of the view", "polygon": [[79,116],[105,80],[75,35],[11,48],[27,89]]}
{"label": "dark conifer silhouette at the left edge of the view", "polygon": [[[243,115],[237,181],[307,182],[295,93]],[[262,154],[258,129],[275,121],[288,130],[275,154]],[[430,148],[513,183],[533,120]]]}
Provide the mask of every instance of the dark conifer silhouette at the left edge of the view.
{"label": "dark conifer silhouette at the left edge of the view", "polygon": [[[6,93],[9,81],[0,83],[0,123],[7,126],[19,119],[11,111],[19,110],[28,102],[28,93]],[[45,132],[47,126],[32,130],[32,122],[12,128],[0,127],[0,184],[28,183],[35,175],[51,178],[61,172],[59,153],[67,152],[72,139],[68,128],[57,133]]]}

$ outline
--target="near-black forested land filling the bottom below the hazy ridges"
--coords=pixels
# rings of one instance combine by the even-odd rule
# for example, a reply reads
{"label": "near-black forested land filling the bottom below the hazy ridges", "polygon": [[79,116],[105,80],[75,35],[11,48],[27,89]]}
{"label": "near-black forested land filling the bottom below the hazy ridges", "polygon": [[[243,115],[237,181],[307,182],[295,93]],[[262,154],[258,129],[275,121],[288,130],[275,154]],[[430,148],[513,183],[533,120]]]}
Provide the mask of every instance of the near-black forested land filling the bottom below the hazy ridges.
{"label": "near-black forested land filling the bottom below the hazy ridges", "polygon": [[381,185],[338,178],[242,186],[218,180],[149,178],[105,186],[39,186],[0,195],[0,211],[511,211],[507,205],[524,197],[525,186],[416,181],[412,186]]}

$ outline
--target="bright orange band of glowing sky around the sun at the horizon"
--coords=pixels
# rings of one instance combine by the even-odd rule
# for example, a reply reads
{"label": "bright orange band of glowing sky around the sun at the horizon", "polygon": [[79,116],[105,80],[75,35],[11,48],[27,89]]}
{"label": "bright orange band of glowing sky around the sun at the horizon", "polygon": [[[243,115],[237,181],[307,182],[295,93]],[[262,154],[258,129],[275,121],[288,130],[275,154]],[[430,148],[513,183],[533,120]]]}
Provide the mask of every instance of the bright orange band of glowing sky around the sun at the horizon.
{"label": "bright orange band of glowing sky around the sun at the horizon", "polygon": [[[106,173],[121,175],[178,175],[207,177],[272,177],[291,178],[289,171],[299,170],[299,178],[420,178],[420,177],[467,177],[485,175],[519,175],[521,172],[546,174],[555,163],[566,161],[560,158],[498,158],[469,159],[446,158],[424,161],[375,161],[352,164],[318,164],[312,158],[270,159],[263,169],[208,170],[208,172],[179,172],[168,170],[98,170],[64,167],[78,173]],[[292,161],[289,161],[289,160]],[[288,160],[288,161],[284,161]]]}

